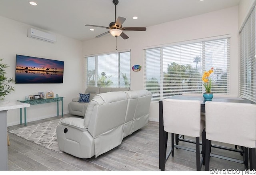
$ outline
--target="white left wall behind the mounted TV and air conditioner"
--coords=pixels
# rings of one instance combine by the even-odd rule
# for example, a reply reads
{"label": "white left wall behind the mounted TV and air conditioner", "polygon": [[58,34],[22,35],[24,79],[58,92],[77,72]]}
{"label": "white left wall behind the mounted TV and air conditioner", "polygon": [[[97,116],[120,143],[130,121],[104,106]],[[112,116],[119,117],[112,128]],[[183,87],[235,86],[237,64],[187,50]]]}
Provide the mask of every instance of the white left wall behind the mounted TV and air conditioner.
{"label": "white left wall behind the mounted TV and air conditioner", "polygon": [[[11,84],[15,87],[15,91],[7,95],[5,99],[16,101],[25,99],[26,95],[36,95],[39,91],[46,93],[46,91],[52,90],[54,94],[65,96],[64,113],[68,113],[68,103],[71,99],[78,97],[79,92],[84,92],[82,42],[55,34],[57,42],[52,44],[28,38],[27,29],[31,26],[26,24],[1,16],[0,24],[0,58],[3,58],[3,63],[9,66],[6,70],[7,77],[15,78],[16,54],[64,61],[63,84]],[[19,111],[19,109],[8,110],[8,126],[19,123]],[[27,108],[27,121],[56,115],[56,103],[31,105]],[[61,110],[59,115],[61,115]]]}

